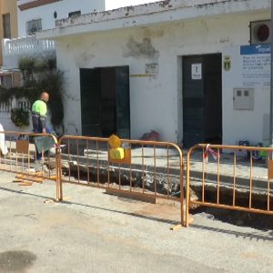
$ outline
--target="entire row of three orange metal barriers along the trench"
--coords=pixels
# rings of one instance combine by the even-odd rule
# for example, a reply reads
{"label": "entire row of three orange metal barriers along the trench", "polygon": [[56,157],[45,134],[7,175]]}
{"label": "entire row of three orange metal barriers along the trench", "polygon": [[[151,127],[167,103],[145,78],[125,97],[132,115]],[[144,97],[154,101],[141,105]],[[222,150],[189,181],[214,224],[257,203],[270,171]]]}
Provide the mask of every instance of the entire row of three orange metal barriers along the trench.
{"label": "entire row of three orange metal barriers along the trench", "polygon": [[[56,181],[57,201],[64,198],[64,183],[70,183],[152,203],[157,198],[177,201],[181,225],[186,227],[191,206],[273,215],[273,148],[191,147],[187,153],[185,214],[183,155],[173,143],[121,139],[125,157],[116,159],[110,157],[109,138],[62,136],[57,141],[48,134],[0,132],[2,144],[3,136],[0,170],[28,180],[39,177]],[[48,153],[48,139],[54,146],[53,154]],[[38,147],[46,171],[35,171]]]}

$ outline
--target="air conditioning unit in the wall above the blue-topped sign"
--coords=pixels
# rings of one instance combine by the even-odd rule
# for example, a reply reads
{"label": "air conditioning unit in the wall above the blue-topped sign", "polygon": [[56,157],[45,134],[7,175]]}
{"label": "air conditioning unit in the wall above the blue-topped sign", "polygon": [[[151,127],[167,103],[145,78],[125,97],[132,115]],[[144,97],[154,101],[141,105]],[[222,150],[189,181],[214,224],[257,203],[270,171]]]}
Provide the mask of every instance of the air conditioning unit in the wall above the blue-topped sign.
{"label": "air conditioning unit in the wall above the blue-topped sign", "polygon": [[270,20],[250,22],[250,45],[270,43]]}

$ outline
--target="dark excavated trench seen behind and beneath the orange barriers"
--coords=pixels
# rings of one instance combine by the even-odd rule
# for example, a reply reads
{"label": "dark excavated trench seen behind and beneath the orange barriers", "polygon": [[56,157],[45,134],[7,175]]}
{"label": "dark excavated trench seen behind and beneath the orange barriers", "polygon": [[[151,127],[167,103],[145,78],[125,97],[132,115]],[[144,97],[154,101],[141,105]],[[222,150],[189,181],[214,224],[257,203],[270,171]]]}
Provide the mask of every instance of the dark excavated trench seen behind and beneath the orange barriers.
{"label": "dark excavated trench seen behind and beneath the orange barriers", "polygon": [[[124,172],[120,177],[115,171],[109,172],[109,180],[111,183],[118,185],[120,183],[120,187],[127,189],[130,186],[128,172]],[[80,179],[82,181],[96,181],[97,173],[89,172],[87,175],[86,171],[78,171],[78,169],[74,169],[70,172],[70,176],[75,177],[76,180]],[[184,177],[185,178],[185,177]],[[164,181],[164,178],[161,177],[157,180],[157,193],[158,194],[167,194],[167,182]],[[185,179],[186,180],[186,179]],[[185,181],[184,180],[184,181]],[[99,173],[99,181],[101,184],[107,183],[108,181],[108,173],[106,169],[102,169]],[[172,187],[169,194],[174,197],[180,197],[180,185],[179,185],[179,177],[176,177],[177,183],[175,183],[175,187]],[[132,177],[132,187],[136,187],[142,189],[142,184],[145,184],[145,189],[150,192],[154,192],[155,181],[152,183],[147,183],[146,177],[142,176],[142,172],[139,172],[138,175]],[[184,190],[184,192],[186,192]],[[202,199],[202,185],[200,183],[196,183],[191,187],[190,190],[191,198],[201,200]],[[217,187],[214,185],[207,185],[205,187],[205,196],[204,200],[206,202],[216,203],[217,202]],[[232,187],[221,187],[219,190],[219,203],[221,205],[229,205],[233,204],[233,188]],[[270,210],[273,210],[273,195],[270,196]],[[244,188],[239,188],[235,193],[235,205],[238,207],[248,207],[249,206],[249,192]],[[251,196],[251,207],[257,209],[266,210],[268,206],[267,196],[265,192],[254,191]],[[197,214],[207,214],[207,217],[215,218],[223,222],[230,223],[232,225],[237,226],[245,226],[245,227],[253,227],[261,230],[273,230],[273,215],[262,215],[258,213],[249,213],[240,210],[232,210],[232,209],[220,209],[216,207],[200,207],[193,204],[190,206],[190,213],[192,215]]]}

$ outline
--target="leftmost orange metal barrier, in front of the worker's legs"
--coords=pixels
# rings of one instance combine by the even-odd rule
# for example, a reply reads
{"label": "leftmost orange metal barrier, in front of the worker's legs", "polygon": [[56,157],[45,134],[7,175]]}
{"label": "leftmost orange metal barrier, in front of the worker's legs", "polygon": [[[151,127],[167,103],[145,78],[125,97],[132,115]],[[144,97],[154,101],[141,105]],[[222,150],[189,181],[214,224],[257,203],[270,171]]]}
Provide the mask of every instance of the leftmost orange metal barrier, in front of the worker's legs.
{"label": "leftmost orange metal barrier, in front of the worker's legs", "polygon": [[[41,183],[44,179],[56,181],[56,153],[52,155],[44,150],[44,139],[51,144],[57,144],[55,136],[49,134],[33,134],[26,132],[0,132],[0,170],[17,174],[17,182],[22,185],[31,185],[33,182]],[[4,139],[5,138],[5,139]],[[39,139],[39,148],[42,152],[40,169],[37,171],[34,141]],[[55,148],[53,148],[55,150]]]}

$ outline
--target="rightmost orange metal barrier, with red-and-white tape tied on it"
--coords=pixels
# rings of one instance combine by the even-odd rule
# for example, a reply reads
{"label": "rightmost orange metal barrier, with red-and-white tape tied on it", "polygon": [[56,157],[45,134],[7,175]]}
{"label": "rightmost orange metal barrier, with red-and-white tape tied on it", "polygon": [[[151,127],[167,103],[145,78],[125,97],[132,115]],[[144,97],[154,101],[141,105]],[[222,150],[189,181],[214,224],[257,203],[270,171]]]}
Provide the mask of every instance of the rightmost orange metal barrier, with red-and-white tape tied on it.
{"label": "rightmost orange metal barrier, with red-and-white tape tied on it", "polygon": [[[273,215],[272,152],[268,147],[191,147],[187,153],[186,226],[191,206]],[[196,199],[190,197],[191,190]]]}

